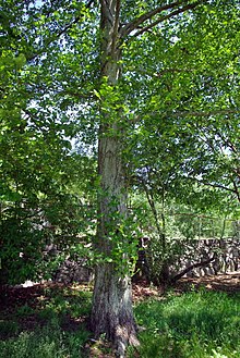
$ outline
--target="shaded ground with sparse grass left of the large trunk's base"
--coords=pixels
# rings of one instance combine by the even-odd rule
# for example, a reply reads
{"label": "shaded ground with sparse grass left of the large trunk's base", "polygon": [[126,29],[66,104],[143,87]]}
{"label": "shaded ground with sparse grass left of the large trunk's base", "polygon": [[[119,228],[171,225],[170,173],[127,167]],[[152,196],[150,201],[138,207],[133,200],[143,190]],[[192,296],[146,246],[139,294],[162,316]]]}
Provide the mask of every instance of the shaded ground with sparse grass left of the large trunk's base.
{"label": "shaded ground with sparse grass left of the large trunk's base", "polygon": [[85,288],[5,288],[0,306],[1,358],[85,358],[91,309],[91,293]]}

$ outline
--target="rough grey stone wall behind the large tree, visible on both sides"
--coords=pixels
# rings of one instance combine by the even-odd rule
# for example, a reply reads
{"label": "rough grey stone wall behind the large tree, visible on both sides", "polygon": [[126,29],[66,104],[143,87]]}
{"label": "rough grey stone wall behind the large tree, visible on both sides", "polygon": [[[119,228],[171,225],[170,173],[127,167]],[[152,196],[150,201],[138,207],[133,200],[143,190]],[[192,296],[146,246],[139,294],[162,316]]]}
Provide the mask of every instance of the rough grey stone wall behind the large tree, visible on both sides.
{"label": "rough grey stone wall behind the large tree, visible on both sides", "polygon": [[[190,277],[240,271],[240,240],[237,238],[199,239],[183,245],[184,255],[169,268],[171,276],[183,271],[187,271],[184,276]],[[144,266],[142,268],[144,269]],[[93,269],[87,264],[87,260],[82,258],[77,261],[67,259],[52,277],[55,282],[64,284],[84,283],[93,279]]]}

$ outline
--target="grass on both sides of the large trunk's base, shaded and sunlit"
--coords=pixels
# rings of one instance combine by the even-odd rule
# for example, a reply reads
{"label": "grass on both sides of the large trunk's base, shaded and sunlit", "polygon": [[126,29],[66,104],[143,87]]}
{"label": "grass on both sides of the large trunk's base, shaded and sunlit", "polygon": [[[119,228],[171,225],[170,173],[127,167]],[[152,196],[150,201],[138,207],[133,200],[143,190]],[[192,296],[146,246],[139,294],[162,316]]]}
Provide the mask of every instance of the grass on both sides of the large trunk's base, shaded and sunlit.
{"label": "grass on both sides of the large trunk's base, shaded and sunlit", "polygon": [[[0,312],[1,358],[107,357],[86,350],[91,293],[45,287]],[[128,358],[240,358],[240,295],[190,291],[147,299],[135,308],[141,346]],[[109,349],[108,349],[109,351]],[[108,356],[109,357],[109,356]]]}

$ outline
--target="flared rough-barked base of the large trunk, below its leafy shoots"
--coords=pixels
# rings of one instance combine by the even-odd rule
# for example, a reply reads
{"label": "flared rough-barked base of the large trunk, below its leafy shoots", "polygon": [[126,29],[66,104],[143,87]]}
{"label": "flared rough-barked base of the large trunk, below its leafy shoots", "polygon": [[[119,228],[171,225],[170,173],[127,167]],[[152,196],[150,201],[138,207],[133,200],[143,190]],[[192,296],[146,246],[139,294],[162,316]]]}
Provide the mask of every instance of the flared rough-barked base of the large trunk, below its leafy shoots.
{"label": "flared rough-barked base of the large trunk, below its leafy shoots", "polygon": [[96,340],[113,343],[117,356],[123,358],[128,345],[140,345],[132,310],[130,277],[119,277],[111,263],[96,269],[91,329]]}

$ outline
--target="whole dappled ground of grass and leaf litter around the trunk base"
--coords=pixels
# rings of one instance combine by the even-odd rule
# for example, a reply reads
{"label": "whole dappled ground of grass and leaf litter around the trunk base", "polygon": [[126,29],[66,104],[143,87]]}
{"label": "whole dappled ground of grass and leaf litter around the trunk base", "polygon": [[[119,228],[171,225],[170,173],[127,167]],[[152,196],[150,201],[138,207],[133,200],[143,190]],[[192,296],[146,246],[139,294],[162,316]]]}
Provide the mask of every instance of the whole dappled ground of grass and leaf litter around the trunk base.
{"label": "whole dappled ground of grass and leaf litter around the trunk base", "polygon": [[[165,292],[144,282],[133,284],[141,346],[129,348],[127,356],[238,358],[238,279],[237,274],[181,279]],[[11,351],[10,357],[14,353],[14,358],[20,358],[17,351],[26,355],[32,349],[35,357],[43,358],[113,358],[113,347],[104,336],[99,341],[91,338],[87,322],[92,288],[91,284],[52,283],[1,287],[1,357],[9,358],[7,351]],[[41,356],[40,344],[46,347],[43,351],[52,356]]]}

